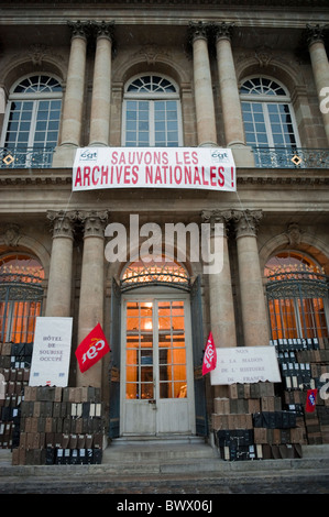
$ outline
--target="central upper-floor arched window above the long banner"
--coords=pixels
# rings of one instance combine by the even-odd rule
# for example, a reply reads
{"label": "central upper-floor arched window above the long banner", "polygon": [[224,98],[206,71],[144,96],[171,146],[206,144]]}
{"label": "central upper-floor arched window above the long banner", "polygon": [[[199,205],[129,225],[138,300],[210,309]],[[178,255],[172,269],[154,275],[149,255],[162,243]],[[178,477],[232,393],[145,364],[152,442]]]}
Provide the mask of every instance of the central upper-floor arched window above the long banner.
{"label": "central upper-floor arched window above the long banner", "polygon": [[122,142],[132,147],[183,145],[178,87],[163,76],[134,77],[125,86]]}

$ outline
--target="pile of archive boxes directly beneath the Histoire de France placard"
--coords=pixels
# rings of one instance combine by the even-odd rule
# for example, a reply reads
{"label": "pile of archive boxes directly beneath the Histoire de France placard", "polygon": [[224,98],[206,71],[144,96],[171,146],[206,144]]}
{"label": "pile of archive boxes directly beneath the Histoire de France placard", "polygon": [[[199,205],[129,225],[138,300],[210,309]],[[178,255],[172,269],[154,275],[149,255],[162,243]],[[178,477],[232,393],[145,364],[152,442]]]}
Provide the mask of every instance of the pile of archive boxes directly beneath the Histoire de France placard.
{"label": "pile of archive boxes directly beneath the Histoire de France placard", "polygon": [[294,411],[282,409],[273,383],[232,384],[228,397],[215,399],[212,430],[223,460],[295,458],[303,429]]}

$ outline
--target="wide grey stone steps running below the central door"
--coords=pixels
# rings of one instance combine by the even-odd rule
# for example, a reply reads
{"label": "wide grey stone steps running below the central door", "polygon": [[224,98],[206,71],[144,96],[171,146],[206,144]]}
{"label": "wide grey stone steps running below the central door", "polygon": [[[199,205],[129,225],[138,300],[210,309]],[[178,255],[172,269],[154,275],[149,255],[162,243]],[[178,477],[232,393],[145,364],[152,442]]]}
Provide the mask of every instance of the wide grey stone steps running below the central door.
{"label": "wide grey stone steps running below the central door", "polygon": [[[143,449],[143,450],[142,450]],[[94,465],[11,465],[10,450],[0,450],[0,479],[36,476],[272,476],[307,475],[310,472],[329,476],[329,446],[304,447],[300,459],[223,461],[210,446],[155,443],[114,444],[103,451],[101,464]],[[154,477],[155,479],[155,477]]]}

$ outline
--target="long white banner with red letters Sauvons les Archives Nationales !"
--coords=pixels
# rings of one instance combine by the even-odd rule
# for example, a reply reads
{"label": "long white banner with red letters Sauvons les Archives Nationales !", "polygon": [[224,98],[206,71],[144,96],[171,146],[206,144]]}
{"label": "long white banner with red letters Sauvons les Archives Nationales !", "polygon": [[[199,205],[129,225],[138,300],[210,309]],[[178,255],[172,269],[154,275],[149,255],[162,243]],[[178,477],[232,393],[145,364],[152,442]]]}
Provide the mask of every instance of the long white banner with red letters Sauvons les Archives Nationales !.
{"label": "long white banner with red letters Sauvons les Archives Nationales !", "polygon": [[134,187],[235,191],[232,152],[218,147],[77,150],[73,167],[74,191]]}

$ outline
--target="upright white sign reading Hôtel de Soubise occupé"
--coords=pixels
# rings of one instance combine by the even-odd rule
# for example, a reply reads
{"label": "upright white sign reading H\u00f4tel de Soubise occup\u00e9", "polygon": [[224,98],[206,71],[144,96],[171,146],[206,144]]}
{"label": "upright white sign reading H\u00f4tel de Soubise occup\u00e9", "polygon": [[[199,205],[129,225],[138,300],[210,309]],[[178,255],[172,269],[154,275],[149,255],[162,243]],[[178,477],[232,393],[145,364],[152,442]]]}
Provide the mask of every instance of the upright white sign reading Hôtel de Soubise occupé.
{"label": "upright white sign reading H\u00f4tel de Soubise occup\u00e9", "polygon": [[68,384],[73,318],[36,318],[30,386]]}

